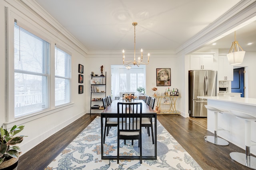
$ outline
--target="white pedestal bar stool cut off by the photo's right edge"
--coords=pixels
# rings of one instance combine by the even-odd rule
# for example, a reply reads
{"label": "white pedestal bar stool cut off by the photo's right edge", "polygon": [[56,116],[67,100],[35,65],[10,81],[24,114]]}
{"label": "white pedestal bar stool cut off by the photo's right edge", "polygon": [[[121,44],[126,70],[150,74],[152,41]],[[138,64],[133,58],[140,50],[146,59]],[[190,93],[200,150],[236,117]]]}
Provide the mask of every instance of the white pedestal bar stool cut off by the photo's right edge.
{"label": "white pedestal bar stool cut off by the photo's right edge", "polygon": [[241,111],[230,110],[230,112],[237,118],[245,121],[245,154],[240,152],[231,152],[229,155],[239,164],[255,170],[256,158],[254,156],[250,156],[250,147],[256,146],[256,143],[251,141],[251,121],[256,121],[256,117]]}

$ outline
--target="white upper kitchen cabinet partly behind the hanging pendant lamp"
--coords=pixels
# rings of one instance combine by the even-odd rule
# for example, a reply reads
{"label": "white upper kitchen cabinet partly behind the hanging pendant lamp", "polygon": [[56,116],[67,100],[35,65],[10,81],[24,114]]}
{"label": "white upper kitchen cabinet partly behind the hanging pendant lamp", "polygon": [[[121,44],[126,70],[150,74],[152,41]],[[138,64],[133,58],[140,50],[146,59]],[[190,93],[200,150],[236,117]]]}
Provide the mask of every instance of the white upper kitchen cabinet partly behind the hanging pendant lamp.
{"label": "white upper kitchen cabinet partly behind the hanging pendant lamp", "polygon": [[228,63],[226,55],[219,56],[219,81],[233,81],[233,66]]}

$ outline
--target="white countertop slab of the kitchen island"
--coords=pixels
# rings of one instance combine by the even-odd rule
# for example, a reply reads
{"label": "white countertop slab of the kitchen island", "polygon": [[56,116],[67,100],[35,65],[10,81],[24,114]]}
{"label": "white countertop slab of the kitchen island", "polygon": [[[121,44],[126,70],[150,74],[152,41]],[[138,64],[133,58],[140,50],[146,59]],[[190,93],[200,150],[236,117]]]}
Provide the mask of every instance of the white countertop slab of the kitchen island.
{"label": "white countertop slab of the kitchen island", "polygon": [[244,104],[250,106],[256,106],[256,98],[234,98],[230,96],[197,96],[202,99],[217,100],[223,102],[231,102],[236,104]]}

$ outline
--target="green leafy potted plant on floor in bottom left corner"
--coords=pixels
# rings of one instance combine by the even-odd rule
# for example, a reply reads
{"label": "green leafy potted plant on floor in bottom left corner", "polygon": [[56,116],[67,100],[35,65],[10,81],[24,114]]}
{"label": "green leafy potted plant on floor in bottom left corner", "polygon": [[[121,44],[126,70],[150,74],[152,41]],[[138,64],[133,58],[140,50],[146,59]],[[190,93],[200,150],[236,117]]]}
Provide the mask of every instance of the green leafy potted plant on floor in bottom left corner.
{"label": "green leafy potted plant on floor in bottom left corner", "polygon": [[18,158],[20,155],[20,147],[16,144],[23,141],[23,135],[16,136],[22,131],[24,126],[17,127],[14,125],[10,132],[7,129],[0,128],[0,170],[13,170],[18,166]]}

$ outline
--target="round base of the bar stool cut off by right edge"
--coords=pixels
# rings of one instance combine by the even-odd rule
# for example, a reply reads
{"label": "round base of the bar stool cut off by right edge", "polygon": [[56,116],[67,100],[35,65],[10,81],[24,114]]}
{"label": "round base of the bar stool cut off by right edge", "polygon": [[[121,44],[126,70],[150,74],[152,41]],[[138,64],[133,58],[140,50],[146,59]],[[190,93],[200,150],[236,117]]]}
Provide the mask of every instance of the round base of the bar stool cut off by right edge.
{"label": "round base of the bar stool cut off by right edge", "polygon": [[229,155],[234,161],[238,162],[239,164],[256,170],[256,158],[254,156],[250,156],[250,162],[246,162],[246,154],[244,153],[231,152]]}

